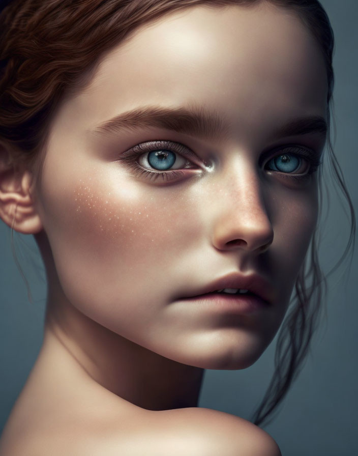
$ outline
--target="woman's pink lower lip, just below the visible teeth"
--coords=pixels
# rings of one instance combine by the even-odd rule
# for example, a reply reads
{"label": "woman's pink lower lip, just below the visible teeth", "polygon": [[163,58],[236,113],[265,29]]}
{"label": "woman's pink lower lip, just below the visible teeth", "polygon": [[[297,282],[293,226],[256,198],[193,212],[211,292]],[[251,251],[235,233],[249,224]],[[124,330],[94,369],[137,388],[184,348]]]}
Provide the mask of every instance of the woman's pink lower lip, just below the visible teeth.
{"label": "woman's pink lower lip, just below the visible teeth", "polygon": [[206,293],[205,295],[185,298],[184,301],[200,304],[202,306],[214,306],[218,311],[234,313],[256,313],[270,305],[257,295],[245,294],[219,294]]}

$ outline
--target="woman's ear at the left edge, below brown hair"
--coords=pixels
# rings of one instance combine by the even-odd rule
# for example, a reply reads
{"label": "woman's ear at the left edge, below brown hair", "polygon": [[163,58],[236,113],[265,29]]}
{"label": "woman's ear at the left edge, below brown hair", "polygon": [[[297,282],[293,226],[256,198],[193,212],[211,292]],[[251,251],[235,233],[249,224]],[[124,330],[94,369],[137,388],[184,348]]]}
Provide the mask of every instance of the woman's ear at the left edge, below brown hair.
{"label": "woman's ear at the left edge, below brown hair", "polygon": [[32,194],[32,173],[16,165],[0,145],[0,217],[14,230],[35,234],[42,230]]}

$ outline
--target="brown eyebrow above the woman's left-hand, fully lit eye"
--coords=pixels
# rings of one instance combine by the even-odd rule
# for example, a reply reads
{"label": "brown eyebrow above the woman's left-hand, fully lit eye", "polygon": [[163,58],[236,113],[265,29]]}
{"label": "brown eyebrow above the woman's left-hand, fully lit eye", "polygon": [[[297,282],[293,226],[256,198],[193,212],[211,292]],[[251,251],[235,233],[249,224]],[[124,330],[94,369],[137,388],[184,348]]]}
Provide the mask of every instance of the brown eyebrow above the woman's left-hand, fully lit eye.
{"label": "brown eyebrow above the woman's left-hand, fully lit eye", "polygon": [[207,139],[220,138],[226,131],[219,115],[204,108],[143,107],[123,112],[91,132],[102,136],[138,127],[164,128]]}

